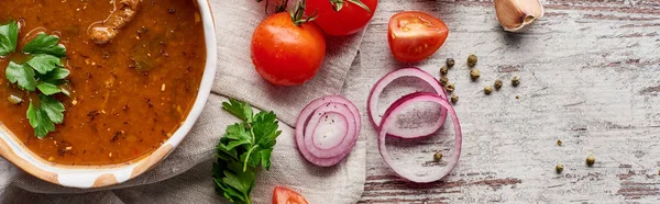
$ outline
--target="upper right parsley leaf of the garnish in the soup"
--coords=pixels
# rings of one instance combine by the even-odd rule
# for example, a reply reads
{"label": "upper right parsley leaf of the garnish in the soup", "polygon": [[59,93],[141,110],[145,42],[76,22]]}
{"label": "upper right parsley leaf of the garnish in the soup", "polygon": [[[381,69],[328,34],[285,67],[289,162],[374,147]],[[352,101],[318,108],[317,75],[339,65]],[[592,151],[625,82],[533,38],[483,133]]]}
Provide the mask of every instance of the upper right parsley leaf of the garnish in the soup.
{"label": "upper right parsley leaf of the garnish in the soup", "polygon": [[66,56],[66,48],[61,46],[59,37],[56,35],[47,35],[45,33],[36,35],[25,47],[23,53],[29,54],[48,54],[55,57]]}

